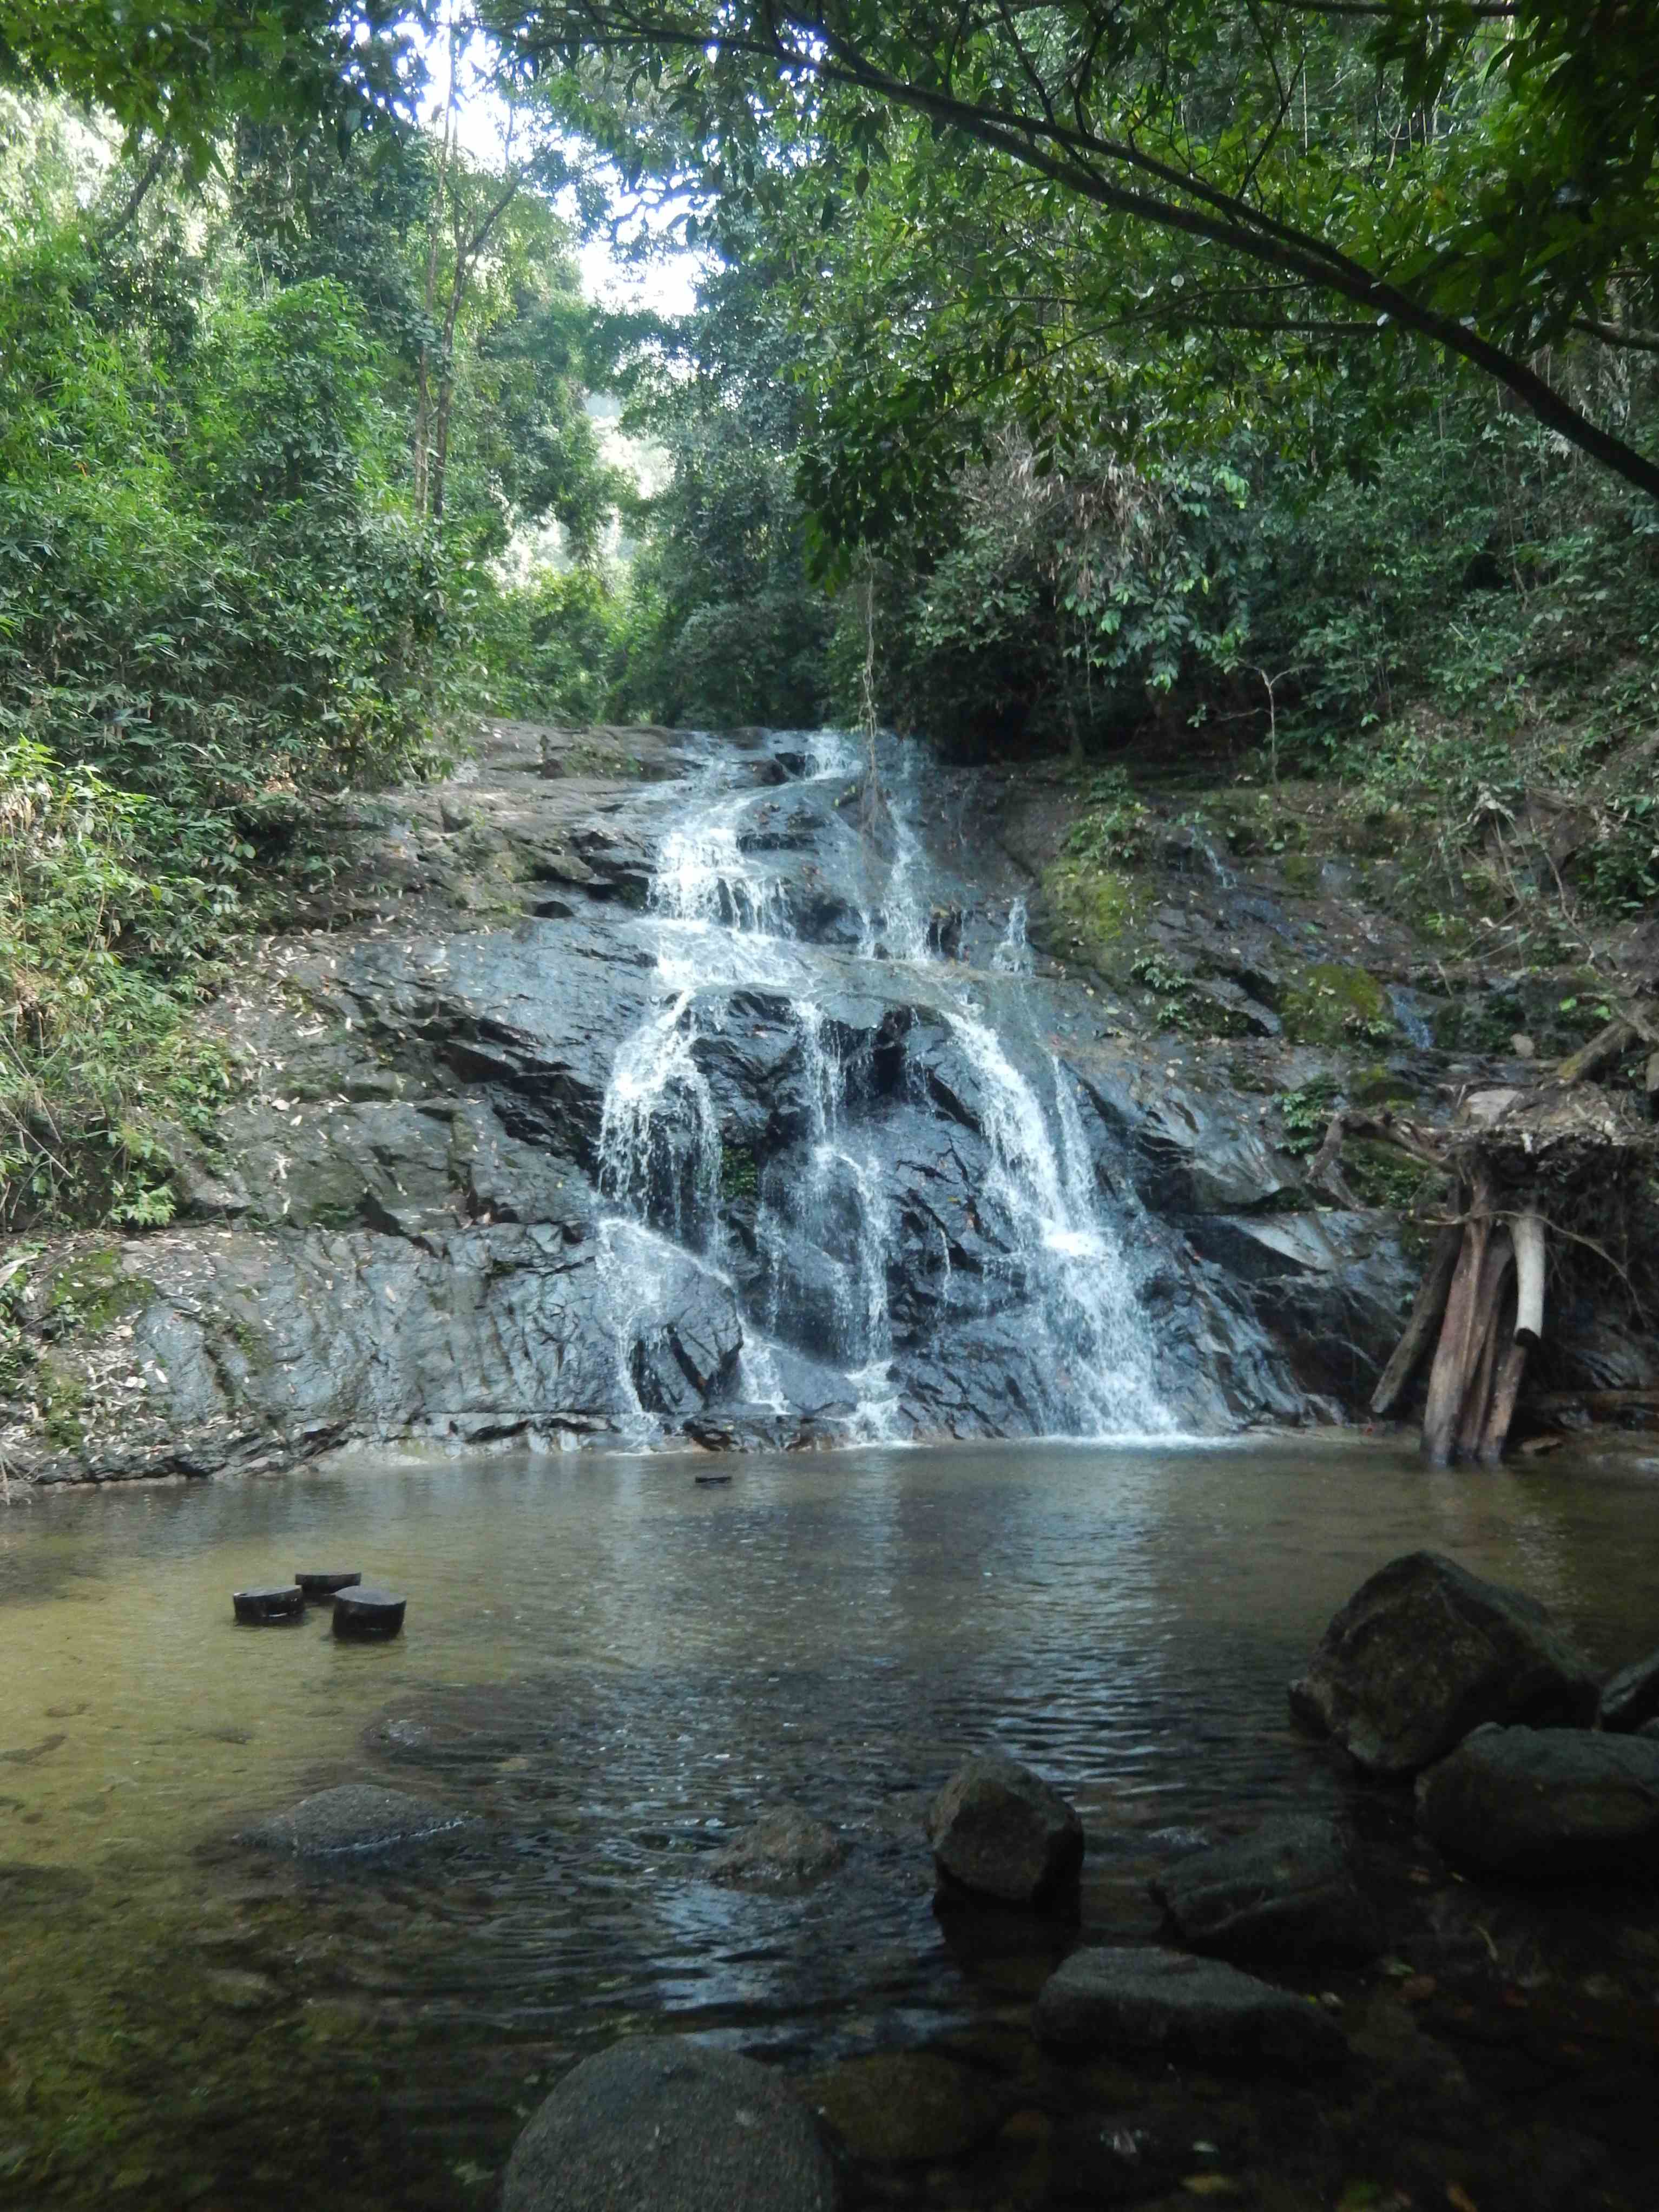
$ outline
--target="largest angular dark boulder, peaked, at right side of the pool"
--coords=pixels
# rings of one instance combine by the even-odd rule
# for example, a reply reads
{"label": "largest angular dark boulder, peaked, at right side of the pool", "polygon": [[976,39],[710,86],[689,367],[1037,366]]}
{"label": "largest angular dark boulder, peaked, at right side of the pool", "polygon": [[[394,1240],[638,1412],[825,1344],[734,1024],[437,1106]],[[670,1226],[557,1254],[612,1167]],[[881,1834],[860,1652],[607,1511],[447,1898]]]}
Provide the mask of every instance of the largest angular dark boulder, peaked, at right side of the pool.
{"label": "largest angular dark boulder, peaked, at right side of the pool", "polygon": [[1595,1703],[1588,1661],[1535,1599],[1433,1551],[1360,1584],[1290,1686],[1298,1721],[1400,1781],[1484,1721],[1588,1728]]}

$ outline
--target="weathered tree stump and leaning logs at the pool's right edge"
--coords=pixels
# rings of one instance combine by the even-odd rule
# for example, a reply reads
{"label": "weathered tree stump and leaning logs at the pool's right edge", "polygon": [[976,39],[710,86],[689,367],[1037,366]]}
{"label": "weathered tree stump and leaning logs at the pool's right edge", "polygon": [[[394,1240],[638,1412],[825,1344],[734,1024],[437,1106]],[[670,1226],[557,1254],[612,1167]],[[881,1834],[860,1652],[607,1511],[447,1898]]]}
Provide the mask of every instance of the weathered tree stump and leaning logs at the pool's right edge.
{"label": "weathered tree stump and leaning logs at the pool's right edge", "polygon": [[1442,1217],[1411,1318],[1371,1394],[1378,1418],[1394,1411],[1433,1345],[1422,1409],[1429,1467],[1502,1458],[1528,1354],[1544,1340],[1551,1243],[1597,1250],[1577,1223],[1659,1155],[1659,1130],[1584,1079],[1652,1029],[1646,1013],[1610,1022],[1542,1084],[1467,1091],[1451,1124],[1389,1110],[1332,1117],[1316,1183],[1340,1192],[1345,1139],[1369,1137],[1444,1177],[1451,1194],[1451,1219]]}

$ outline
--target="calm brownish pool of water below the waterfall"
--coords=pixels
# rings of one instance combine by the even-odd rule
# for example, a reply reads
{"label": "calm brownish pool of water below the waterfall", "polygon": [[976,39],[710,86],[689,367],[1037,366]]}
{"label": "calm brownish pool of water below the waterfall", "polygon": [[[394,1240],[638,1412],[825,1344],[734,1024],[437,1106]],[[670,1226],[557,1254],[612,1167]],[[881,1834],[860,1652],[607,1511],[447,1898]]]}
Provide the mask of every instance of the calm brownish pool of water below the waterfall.
{"label": "calm brownish pool of water below the waterfall", "polygon": [[[814,2077],[993,2037],[1044,1960],[931,1911],[918,1818],[956,1756],[1048,1774],[1088,1829],[1086,1918],[1150,1933],[1166,1832],[1349,1790],[1285,1679],[1394,1553],[1522,1584],[1608,1666],[1659,1641],[1641,1455],[1425,1475],[1360,1442],[865,1449],[697,1486],[710,1469],[354,1458],[0,1517],[0,2203],[487,2205],[522,2115],[626,2031]],[[405,1637],[336,1644],[321,1608],[232,1624],[232,1588],[305,1566],[407,1590]],[[356,1776],[484,1827],[330,1874],[228,1847]],[[803,1896],[708,1882],[781,1803],[847,1827],[847,1867]],[[1073,2201],[1053,2188],[1006,2201]]]}

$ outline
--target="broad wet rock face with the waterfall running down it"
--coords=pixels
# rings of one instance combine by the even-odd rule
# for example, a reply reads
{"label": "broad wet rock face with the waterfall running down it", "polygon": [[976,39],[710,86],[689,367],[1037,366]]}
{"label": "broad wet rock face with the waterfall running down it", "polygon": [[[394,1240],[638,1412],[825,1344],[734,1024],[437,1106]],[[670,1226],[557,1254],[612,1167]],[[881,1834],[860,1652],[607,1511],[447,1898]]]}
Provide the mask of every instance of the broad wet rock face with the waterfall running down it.
{"label": "broad wet rock face with the waterfall running down it", "polygon": [[1343,1418],[1396,1217],[1303,1190],[1243,1046],[1035,958],[971,796],[918,748],[498,723],[361,807],[208,1011],[239,1088],[173,1225],[11,1283],[11,1473]]}

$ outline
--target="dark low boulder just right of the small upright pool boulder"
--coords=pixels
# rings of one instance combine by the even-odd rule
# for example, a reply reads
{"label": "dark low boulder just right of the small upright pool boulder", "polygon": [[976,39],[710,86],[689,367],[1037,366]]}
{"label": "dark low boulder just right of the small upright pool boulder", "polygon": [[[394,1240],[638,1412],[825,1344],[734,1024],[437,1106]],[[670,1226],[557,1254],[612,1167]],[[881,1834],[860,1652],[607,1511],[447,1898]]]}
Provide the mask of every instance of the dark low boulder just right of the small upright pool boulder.
{"label": "dark low boulder just right of the small upright pool boulder", "polygon": [[1287,1816],[1150,1882],[1181,1942],[1223,1958],[1374,1958],[1383,1918],[1332,1820]]}

